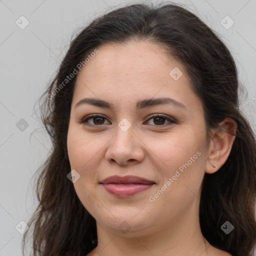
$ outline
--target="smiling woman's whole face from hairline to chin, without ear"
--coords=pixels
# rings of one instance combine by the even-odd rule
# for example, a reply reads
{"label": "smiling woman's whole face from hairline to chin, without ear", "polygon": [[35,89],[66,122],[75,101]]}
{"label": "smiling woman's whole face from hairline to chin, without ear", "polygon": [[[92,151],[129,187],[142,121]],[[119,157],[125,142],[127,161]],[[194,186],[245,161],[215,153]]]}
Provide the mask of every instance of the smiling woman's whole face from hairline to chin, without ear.
{"label": "smiling woman's whole face from hairline to chin, without ear", "polygon": [[[97,49],[77,74],[67,135],[81,203],[98,226],[119,234],[191,224],[207,148],[202,105],[184,67],[149,42]],[[94,104],[80,101],[85,98]],[[99,100],[104,103],[96,104]],[[87,119],[91,114],[100,116]],[[101,183],[113,175],[134,175],[150,184]]]}

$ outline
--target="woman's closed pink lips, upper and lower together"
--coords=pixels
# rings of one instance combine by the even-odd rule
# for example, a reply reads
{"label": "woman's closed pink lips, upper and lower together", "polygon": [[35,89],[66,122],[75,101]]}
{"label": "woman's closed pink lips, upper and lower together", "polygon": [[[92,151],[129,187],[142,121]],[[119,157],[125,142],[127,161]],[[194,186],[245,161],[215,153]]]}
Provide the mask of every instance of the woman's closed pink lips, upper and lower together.
{"label": "woman's closed pink lips, upper and lower together", "polygon": [[155,182],[138,176],[109,176],[99,182],[107,192],[119,197],[129,197],[150,188]]}

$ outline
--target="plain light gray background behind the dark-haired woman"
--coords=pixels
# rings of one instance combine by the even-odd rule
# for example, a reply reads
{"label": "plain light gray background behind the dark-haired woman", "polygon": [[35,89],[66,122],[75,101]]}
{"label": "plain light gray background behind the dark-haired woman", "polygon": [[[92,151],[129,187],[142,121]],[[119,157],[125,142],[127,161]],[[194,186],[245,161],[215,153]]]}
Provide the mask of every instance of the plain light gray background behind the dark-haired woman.
{"label": "plain light gray background behind the dark-haired woman", "polygon": [[[22,234],[17,230],[24,224],[19,222],[28,222],[35,209],[32,175],[50,148],[37,117],[37,98],[82,24],[128,2],[134,1],[0,0],[0,256],[21,255]],[[186,4],[230,49],[247,90],[242,108],[255,131],[256,0],[173,2]],[[21,23],[21,15],[29,21],[24,29],[19,27],[24,19],[19,26],[15,23]],[[227,15],[234,21],[228,29],[221,24]],[[224,22],[231,24],[230,19]]]}

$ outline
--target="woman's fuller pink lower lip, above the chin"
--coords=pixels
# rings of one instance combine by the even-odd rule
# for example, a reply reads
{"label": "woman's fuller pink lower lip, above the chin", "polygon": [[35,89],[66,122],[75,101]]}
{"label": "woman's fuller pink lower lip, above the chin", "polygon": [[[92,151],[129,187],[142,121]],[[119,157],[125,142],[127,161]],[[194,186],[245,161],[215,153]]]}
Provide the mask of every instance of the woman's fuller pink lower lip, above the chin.
{"label": "woman's fuller pink lower lip, above the chin", "polygon": [[117,183],[109,183],[102,184],[103,187],[112,195],[120,196],[120,197],[128,197],[144,191],[151,187],[153,184],[117,184]]}

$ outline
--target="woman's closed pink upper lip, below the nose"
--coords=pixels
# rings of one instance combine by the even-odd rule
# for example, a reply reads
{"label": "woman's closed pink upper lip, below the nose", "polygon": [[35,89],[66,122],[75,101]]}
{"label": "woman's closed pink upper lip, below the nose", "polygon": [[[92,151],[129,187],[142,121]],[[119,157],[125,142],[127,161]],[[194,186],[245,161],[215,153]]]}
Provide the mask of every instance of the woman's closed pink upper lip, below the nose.
{"label": "woman's closed pink upper lip, below the nose", "polygon": [[99,183],[103,184],[109,184],[109,183],[137,183],[137,184],[154,184],[152,180],[148,180],[142,177],[138,176],[132,176],[132,175],[127,175],[127,176],[118,176],[118,175],[113,175],[106,177],[105,179],[101,180]]}

